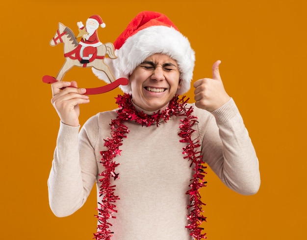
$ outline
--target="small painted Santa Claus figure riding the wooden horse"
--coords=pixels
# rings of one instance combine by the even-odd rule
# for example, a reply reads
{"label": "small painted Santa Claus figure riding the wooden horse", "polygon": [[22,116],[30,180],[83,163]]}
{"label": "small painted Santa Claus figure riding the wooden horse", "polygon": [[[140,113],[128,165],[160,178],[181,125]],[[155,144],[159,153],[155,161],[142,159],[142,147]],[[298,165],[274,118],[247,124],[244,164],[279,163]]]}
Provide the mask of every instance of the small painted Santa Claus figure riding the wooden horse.
{"label": "small painted Santa Claus figure riding the wooden horse", "polygon": [[105,23],[103,23],[102,18],[99,15],[93,15],[86,20],[86,26],[82,22],[78,22],[77,26],[80,30],[84,30],[86,33],[82,35],[79,42],[81,45],[80,56],[82,60],[81,63],[89,63],[91,57],[96,53],[97,47],[102,45],[98,38],[97,30],[100,27],[104,28]]}

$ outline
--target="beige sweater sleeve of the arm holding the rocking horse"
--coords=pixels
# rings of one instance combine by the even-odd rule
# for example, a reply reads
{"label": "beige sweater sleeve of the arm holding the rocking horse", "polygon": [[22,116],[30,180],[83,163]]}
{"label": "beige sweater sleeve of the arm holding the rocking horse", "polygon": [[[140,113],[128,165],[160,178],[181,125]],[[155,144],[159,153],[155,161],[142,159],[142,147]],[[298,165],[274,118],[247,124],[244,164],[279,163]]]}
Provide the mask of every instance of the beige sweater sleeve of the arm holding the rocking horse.
{"label": "beige sweater sleeve of the arm holding the rocking horse", "polygon": [[[91,121],[97,125],[97,120]],[[96,130],[96,131],[95,131]],[[85,203],[97,176],[97,162],[93,144],[96,134],[89,138],[86,127],[72,127],[60,123],[50,176],[49,203],[58,217],[71,215]]]}

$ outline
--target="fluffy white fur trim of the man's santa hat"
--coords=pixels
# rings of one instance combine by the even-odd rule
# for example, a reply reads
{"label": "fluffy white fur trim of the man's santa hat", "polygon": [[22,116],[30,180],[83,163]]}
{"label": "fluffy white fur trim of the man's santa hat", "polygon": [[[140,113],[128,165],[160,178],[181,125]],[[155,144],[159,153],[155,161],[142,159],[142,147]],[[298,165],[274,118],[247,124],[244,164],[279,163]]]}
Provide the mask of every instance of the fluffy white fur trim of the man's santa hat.
{"label": "fluffy white fur trim of the man's santa hat", "polygon": [[[116,79],[129,78],[133,70],[153,54],[166,54],[176,60],[179,66],[181,89],[177,94],[184,94],[190,89],[193,77],[195,53],[188,39],[173,27],[151,26],[139,30],[128,37],[120,49],[115,50],[117,59],[105,59]],[[105,74],[93,68],[94,74],[105,80]],[[130,84],[120,88],[131,94]]]}

